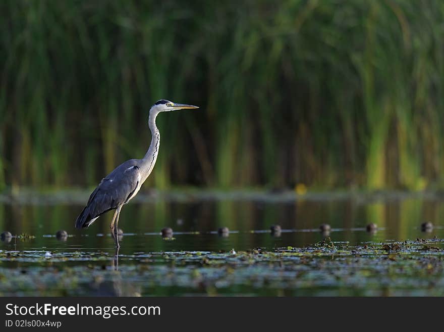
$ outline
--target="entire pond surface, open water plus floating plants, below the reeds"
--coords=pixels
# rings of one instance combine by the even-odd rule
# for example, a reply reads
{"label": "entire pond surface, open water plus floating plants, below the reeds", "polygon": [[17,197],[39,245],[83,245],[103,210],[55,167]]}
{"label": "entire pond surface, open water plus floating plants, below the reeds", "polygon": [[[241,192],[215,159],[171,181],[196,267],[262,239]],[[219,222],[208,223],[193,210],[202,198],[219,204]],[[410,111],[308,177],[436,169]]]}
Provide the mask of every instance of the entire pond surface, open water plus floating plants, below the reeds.
{"label": "entire pond surface, open water plus floating plants, below the reeds", "polygon": [[[122,210],[118,261],[112,213],[76,230],[83,205],[0,205],[0,230],[32,235],[0,242],[0,296],[434,296],[444,289],[438,199],[142,201]],[[421,231],[425,221],[431,232]],[[323,223],[335,246],[313,246]],[[368,233],[368,223],[378,231]],[[270,234],[273,224],[280,236]],[[167,226],[174,240],[162,239]],[[227,237],[217,234],[223,226]],[[61,229],[66,241],[54,236]],[[402,242],[383,249],[394,241]]]}

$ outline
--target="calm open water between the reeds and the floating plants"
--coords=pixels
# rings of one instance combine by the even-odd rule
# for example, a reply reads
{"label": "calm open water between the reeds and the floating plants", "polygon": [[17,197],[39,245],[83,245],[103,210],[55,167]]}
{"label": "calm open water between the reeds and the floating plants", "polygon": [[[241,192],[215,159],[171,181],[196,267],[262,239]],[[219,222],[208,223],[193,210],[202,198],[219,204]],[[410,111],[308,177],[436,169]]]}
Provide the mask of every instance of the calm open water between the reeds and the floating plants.
{"label": "calm open water between the reeds and the floating plants", "polygon": [[[109,234],[112,212],[101,216],[88,229],[74,229],[81,205],[0,205],[0,230],[12,234],[35,235],[26,241],[0,243],[0,249],[12,250],[109,250],[114,242]],[[430,221],[435,228],[424,233],[420,224]],[[365,226],[376,223],[375,234]],[[331,239],[351,244],[386,240],[444,238],[444,201],[406,199],[389,202],[356,203],[353,200],[320,202],[203,201],[193,203],[132,203],[124,207],[119,227],[124,230],[121,253],[158,251],[220,251],[252,248],[304,247],[323,239],[318,231],[322,223],[331,225]],[[269,228],[281,225],[281,236],[272,236]],[[169,226],[173,241],[165,241],[159,232]],[[228,237],[217,234],[227,226]],[[59,229],[71,236],[66,242],[54,235]],[[15,246],[15,247],[14,247]]]}

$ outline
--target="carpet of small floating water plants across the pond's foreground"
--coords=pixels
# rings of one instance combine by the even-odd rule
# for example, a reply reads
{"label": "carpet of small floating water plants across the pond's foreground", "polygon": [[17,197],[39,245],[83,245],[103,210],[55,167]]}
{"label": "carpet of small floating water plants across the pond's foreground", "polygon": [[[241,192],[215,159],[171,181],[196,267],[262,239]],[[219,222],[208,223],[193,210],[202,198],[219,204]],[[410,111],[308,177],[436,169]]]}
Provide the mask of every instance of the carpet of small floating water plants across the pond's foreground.
{"label": "carpet of small floating water plants across the pond's foreground", "polygon": [[[49,254],[49,255],[48,255]],[[444,240],[227,252],[0,251],[0,295],[444,295]]]}

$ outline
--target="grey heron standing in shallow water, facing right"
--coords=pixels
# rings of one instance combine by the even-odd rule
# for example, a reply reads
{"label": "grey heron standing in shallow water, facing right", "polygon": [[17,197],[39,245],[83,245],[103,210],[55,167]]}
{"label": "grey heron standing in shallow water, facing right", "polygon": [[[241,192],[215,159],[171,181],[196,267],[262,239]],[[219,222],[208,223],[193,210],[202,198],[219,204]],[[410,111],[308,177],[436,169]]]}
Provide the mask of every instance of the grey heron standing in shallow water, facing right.
{"label": "grey heron standing in shallow water, facing right", "polygon": [[156,126],[157,115],[161,112],[194,108],[199,107],[176,104],[164,99],[157,101],[150,108],[148,126],[151,130],[151,144],[145,156],[142,159],[127,160],[100,181],[77,217],[76,228],[86,228],[103,213],[116,210],[109,227],[113,231],[116,248],[120,247],[117,236],[120,211],[137,195],[143,182],[151,174],[159,153],[160,134]]}

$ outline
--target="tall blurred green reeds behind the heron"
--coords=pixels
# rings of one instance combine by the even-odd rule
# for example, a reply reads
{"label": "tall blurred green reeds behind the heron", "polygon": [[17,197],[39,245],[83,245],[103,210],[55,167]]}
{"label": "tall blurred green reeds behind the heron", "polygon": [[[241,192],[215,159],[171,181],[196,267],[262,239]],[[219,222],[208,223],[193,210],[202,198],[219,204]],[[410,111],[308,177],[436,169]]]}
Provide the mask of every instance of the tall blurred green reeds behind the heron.
{"label": "tall blurred green reeds behind the heron", "polygon": [[444,184],[444,2],[0,2],[0,189]]}

